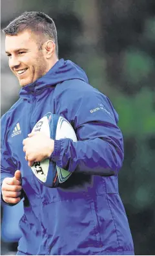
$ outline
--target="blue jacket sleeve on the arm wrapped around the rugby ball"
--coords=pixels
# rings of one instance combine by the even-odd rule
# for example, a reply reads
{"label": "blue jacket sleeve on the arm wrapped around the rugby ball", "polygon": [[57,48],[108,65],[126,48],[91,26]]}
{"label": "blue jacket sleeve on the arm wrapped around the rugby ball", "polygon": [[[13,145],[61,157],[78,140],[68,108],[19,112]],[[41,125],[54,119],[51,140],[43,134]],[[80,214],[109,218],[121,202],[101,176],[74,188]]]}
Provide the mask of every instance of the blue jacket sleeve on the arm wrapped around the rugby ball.
{"label": "blue jacket sleeve on the arm wrapped around the rugby ball", "polygon": [[70,172],[117,174],[123,163],[123,136],[117,125],[118,114],[110,100],[93,88],[71,90],[68,102],[65,108],[63,100],[60,115],[72,124],[78,142],[54,141],[52,160]]}

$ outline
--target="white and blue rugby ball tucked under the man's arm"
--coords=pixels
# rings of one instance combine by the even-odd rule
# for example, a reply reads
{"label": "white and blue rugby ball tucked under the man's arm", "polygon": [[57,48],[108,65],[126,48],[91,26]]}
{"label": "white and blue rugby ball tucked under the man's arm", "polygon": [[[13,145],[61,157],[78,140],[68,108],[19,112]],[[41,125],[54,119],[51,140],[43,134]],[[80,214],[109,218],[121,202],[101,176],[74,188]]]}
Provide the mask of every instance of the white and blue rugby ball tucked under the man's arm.
{"label": "white and blue rugby ball tucked under the man's arm", "polygon": [[[43,132],[51,139],[72,139],[77,141],[76,133],[70,122],[64,117],[48,112],[34,126],[32,132]],[[32,172],[46,187],[57,187],[59,183],[65,182],[72,172],[57,167],[56,163],[50,159],[41,162],[34,162],[31,167]]]}

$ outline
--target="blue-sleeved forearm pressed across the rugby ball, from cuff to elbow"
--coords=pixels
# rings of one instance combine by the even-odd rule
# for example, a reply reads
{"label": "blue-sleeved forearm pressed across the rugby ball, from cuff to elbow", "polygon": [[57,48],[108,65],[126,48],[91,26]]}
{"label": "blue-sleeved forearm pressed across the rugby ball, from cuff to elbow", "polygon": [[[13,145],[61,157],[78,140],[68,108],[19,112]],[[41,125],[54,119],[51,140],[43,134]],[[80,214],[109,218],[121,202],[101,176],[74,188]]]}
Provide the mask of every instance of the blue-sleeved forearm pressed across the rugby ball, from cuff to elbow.
{"label": "blue-sleeved forearm pressed across the rugby ball, from cuff to elbow", "polygon": [[70,139],[55,141],[52,160],[70,172],[87,172],[107,176],[118,173],[123,163],[123,150],[103,139],[74,143]]}

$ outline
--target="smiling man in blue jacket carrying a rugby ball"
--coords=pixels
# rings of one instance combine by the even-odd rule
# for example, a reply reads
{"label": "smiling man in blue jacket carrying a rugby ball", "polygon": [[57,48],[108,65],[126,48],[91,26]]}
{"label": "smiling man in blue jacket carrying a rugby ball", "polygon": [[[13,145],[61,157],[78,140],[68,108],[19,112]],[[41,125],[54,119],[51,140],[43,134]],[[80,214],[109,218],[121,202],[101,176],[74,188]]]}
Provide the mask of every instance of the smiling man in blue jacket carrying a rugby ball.
{"label": "smiling man in blue jacket carrying a rugby ball", "polygon": [[[21,85],[1,121],[2,200],[25,198],[17,255],[133,255],[118,193],[123,137],[110,100],[78,65],[58,59],[56,27],[46,14],[25,12],[3,31]],[[72,124],[78,142],[31,133],[49,111]],[[43,186],[30,169],[47,157],[73,172],[57,188]]]}

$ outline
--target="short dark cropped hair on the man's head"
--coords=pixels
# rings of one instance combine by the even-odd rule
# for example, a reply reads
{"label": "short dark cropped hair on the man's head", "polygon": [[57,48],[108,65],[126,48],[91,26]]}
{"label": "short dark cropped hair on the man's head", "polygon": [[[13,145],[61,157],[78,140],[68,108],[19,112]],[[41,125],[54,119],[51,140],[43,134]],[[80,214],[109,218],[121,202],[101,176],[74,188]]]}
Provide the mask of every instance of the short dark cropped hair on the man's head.
{"label": "short dark cropped hair on the man's head", "polygon": [[[6,35],[16,35],[23,30],[30,29],[32,32],[41,32],[56,44],[58,55],[57,30],[53,19],[43,12],[24,12],[11,21],[3,32]],[[40,43],[40,42],[39,42]]]}

